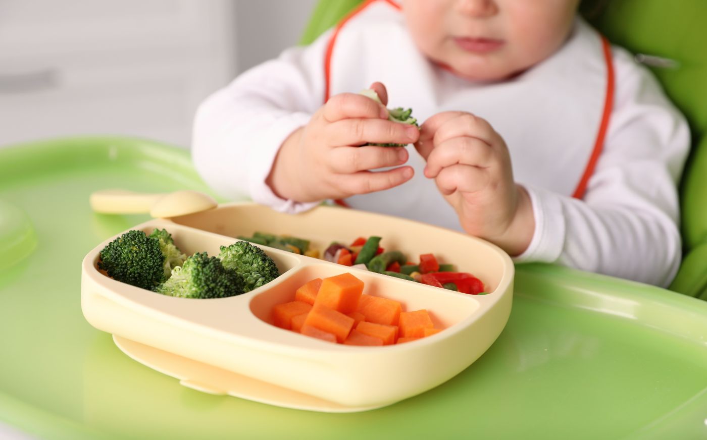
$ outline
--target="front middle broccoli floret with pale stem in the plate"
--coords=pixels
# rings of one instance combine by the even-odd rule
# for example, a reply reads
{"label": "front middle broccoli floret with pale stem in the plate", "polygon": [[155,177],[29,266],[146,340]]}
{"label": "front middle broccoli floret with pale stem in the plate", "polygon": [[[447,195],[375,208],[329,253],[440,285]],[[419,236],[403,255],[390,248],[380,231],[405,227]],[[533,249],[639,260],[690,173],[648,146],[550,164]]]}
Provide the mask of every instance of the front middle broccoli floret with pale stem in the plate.
{"label": "front middle broccoli floret with pale stem in the plate", "polygon": [[245,292],[243,278],[206,252],[187,258],[182,266],[172,270],[172,277],[154,291],[180,298],[225,298]]}

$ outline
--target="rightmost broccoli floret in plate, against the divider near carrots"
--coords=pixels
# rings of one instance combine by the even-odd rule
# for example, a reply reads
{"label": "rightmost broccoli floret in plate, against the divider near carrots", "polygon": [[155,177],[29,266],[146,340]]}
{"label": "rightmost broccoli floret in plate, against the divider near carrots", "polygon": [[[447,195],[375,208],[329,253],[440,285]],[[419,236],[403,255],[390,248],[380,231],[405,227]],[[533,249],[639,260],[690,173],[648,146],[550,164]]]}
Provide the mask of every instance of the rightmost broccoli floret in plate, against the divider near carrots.
{"label": "rightmost broccoli floret in plate, against the divider near carrots", "polygon": [[218,258],[223,262],[223,266],[235,270],[243,277],[245,292],[269,283],[280,275],[272,258],[258,246],[248,242],[221,246]]}

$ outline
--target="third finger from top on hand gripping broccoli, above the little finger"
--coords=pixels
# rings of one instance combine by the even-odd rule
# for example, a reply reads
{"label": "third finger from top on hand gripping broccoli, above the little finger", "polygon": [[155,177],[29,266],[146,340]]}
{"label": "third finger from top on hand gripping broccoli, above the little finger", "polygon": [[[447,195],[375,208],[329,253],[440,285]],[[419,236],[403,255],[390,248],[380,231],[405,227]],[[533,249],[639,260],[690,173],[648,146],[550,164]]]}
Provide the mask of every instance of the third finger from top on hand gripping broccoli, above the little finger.
{"label": "third finger from top on hand gripping broccoli, above the little finger", "polygon": [[339,174],[395,167],[408,159],[404,148],[392,147],[339,147],[332,149],[329,154],[332,170]]}

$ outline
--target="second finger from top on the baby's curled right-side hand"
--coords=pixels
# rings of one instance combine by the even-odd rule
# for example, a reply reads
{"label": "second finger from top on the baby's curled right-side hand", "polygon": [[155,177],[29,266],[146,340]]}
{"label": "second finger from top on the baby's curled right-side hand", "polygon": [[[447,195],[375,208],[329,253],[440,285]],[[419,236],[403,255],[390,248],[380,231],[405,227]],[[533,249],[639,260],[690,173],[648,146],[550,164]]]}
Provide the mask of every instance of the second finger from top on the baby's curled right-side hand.
{"label": "second finger from top on the baby's curled right-side hand", "polygon": [[477,138],[459,137],[437,145],[427,157],[425,176],[437,177],[440,171],[451,165],[471,165],[486,168],[493,162],[493,149]]}

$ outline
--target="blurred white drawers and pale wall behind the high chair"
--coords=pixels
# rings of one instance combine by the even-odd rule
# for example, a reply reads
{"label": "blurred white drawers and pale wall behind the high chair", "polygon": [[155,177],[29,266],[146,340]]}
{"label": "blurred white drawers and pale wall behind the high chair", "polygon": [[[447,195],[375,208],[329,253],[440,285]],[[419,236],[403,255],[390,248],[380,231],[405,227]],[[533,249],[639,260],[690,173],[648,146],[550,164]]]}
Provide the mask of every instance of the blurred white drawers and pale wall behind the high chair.
{"label": "blurred white drawers and pale wall behind the high chair", "polygon": [[316,0],[0,0],[0,146],[121,134],[189,147],[201,100],[296,44]]}

